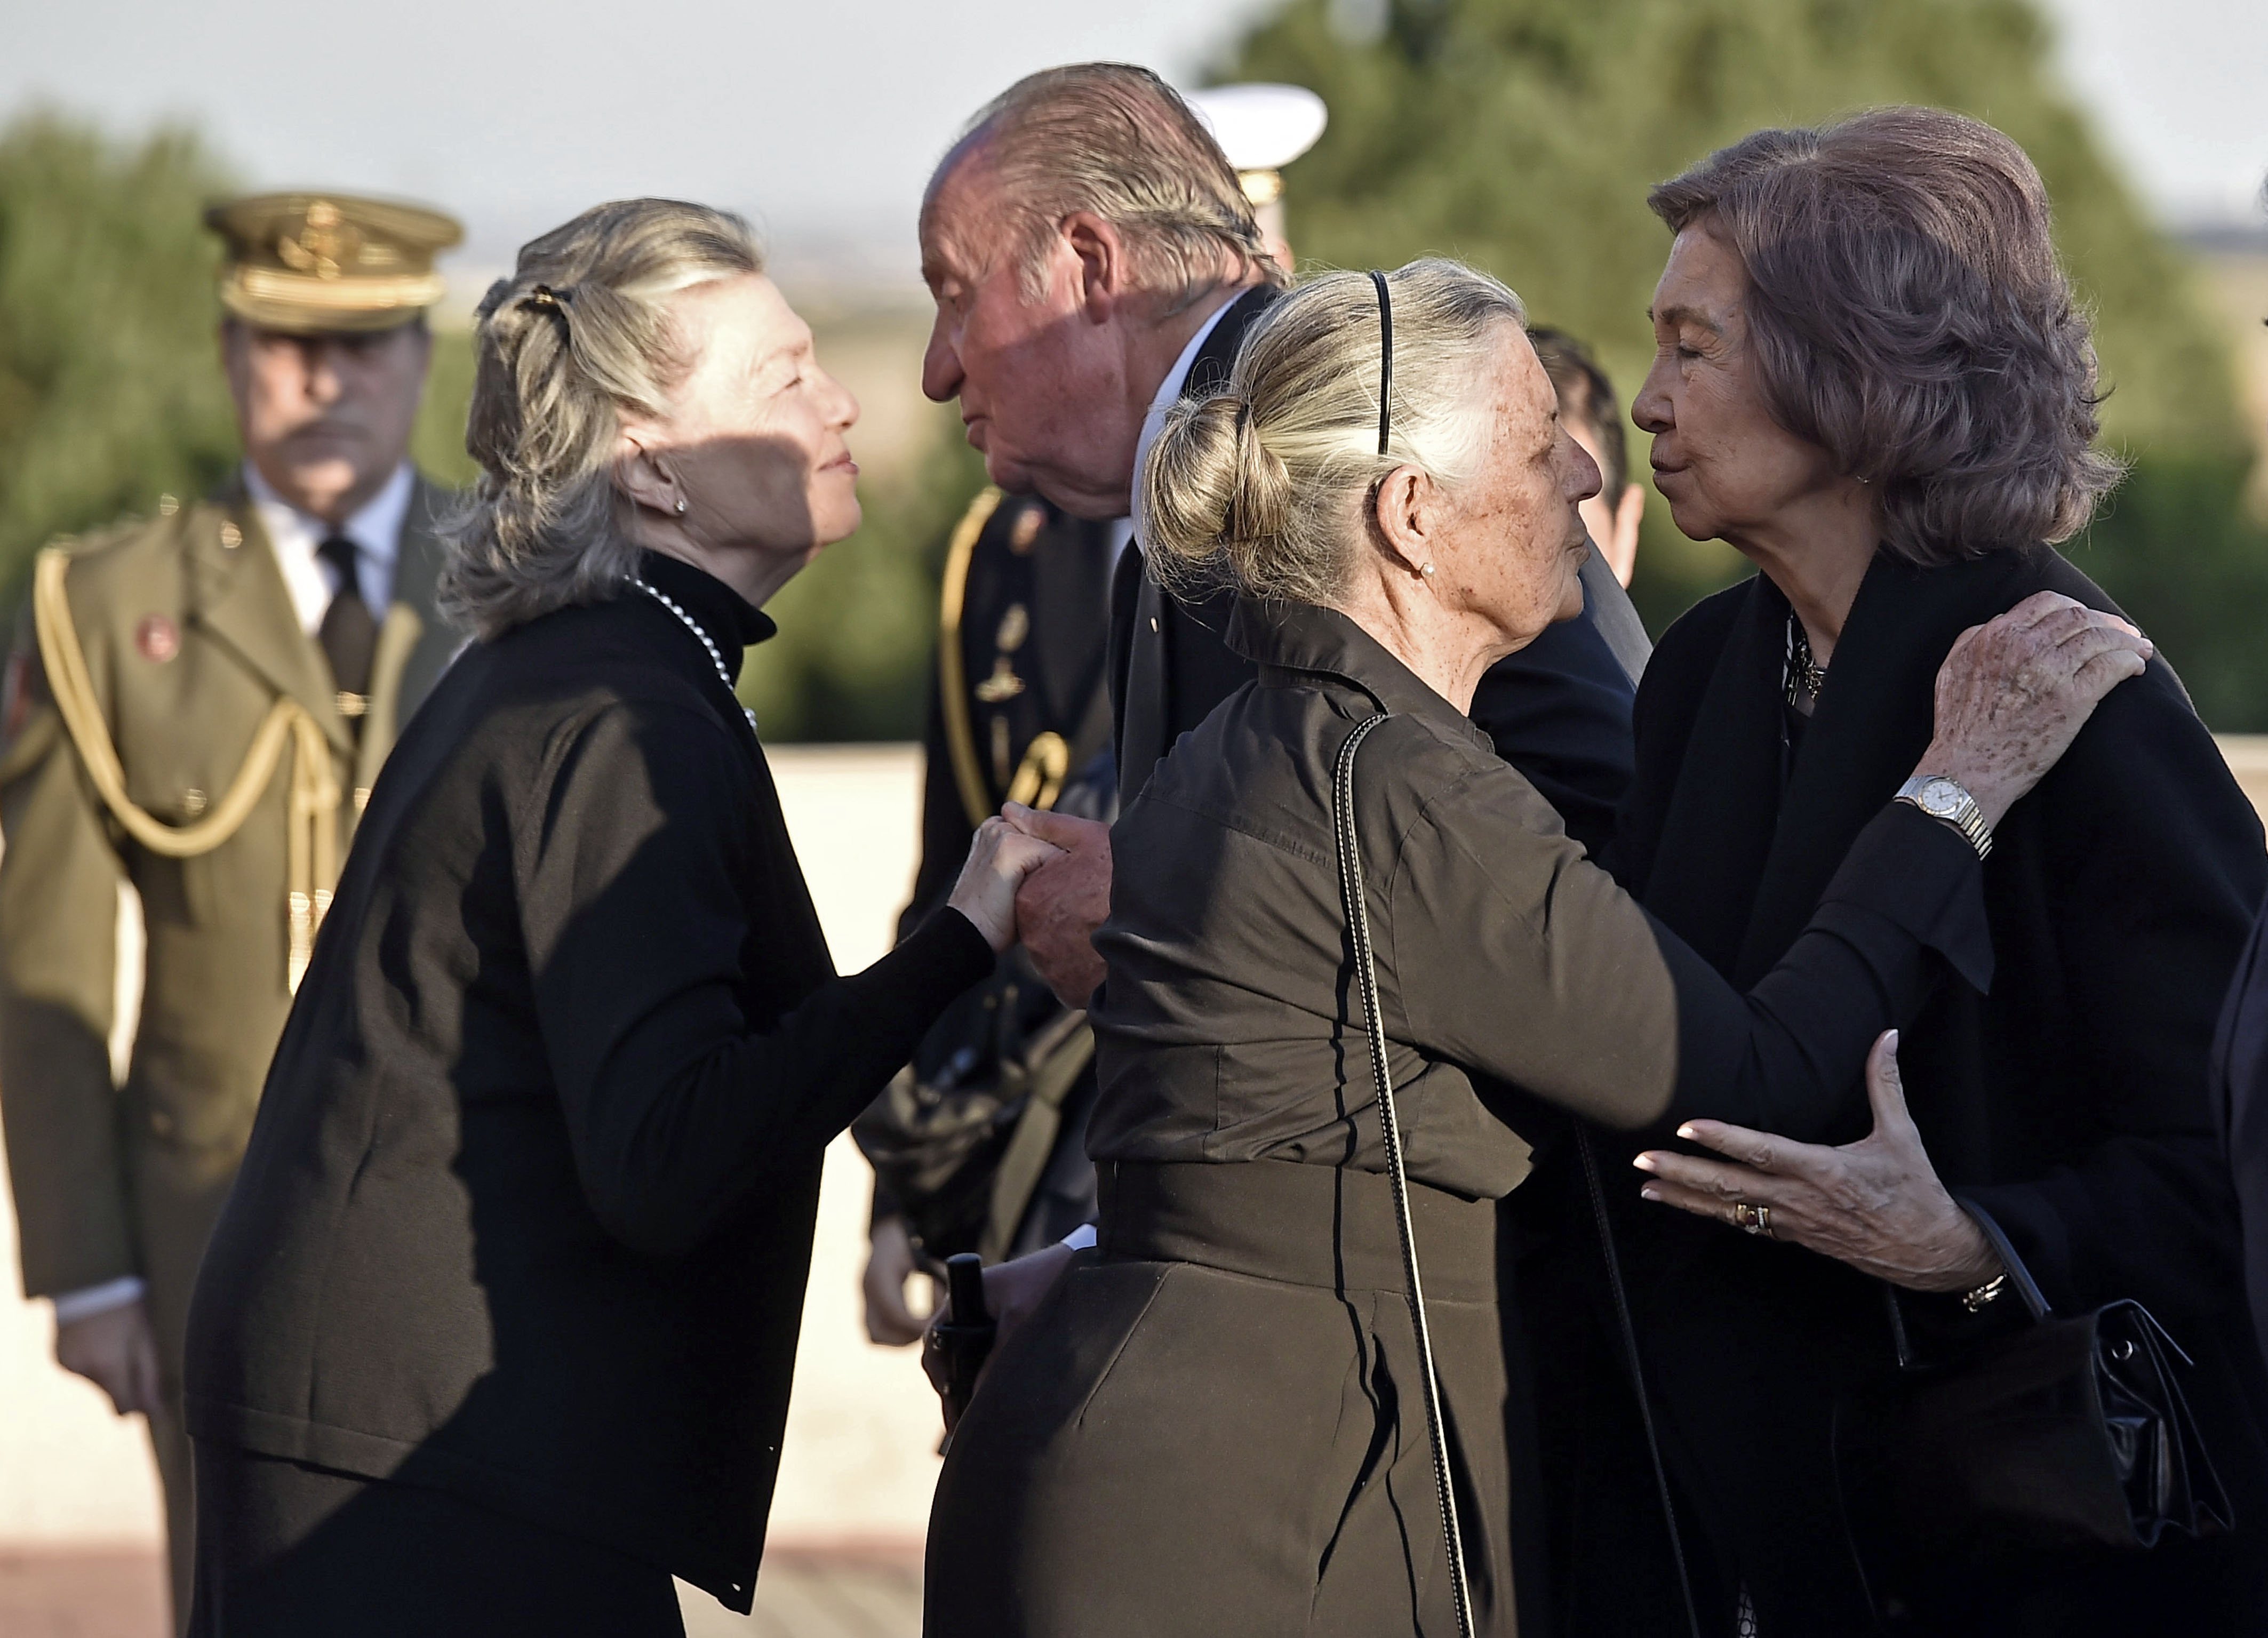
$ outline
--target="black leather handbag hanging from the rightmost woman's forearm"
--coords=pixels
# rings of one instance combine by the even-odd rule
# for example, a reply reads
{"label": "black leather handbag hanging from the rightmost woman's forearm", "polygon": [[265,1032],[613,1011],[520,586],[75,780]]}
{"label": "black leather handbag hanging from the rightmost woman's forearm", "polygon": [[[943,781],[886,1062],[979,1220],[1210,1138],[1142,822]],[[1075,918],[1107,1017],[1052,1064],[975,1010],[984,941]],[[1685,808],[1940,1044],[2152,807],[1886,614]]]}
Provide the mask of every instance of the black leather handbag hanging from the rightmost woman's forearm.
{"label": "black leather handbag hanging from the rightmost woman's forearm", "polygon": [[1944,1570],[2155,1547],[2232,1527],[2175,1361],[2141,1302],[2057,1318],[1989,1214],[1969,1207],[2032,1325],[1921,1366],[1892,1295],[1898,1370],[1835,1411],[1851,1547],[1878,1615]]}

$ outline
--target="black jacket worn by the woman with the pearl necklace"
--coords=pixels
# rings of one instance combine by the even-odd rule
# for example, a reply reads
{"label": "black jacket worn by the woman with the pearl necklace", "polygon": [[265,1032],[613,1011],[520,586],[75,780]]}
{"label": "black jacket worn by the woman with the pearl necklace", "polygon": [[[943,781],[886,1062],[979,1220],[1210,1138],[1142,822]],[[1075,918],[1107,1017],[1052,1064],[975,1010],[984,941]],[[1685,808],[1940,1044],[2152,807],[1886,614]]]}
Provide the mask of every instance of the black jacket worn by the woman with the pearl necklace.
{"label": "black jacket worn by the woman with the pearl necklace", "polygon": [[[771,633],[699,569],[644,574],[733,662]],[[821,1150],[987,971],[946,910],[835,978],[764,753],[653,599],[467,649],[372,792],[268,1073],[191,1311],[191,1432],[746,1611]]]}

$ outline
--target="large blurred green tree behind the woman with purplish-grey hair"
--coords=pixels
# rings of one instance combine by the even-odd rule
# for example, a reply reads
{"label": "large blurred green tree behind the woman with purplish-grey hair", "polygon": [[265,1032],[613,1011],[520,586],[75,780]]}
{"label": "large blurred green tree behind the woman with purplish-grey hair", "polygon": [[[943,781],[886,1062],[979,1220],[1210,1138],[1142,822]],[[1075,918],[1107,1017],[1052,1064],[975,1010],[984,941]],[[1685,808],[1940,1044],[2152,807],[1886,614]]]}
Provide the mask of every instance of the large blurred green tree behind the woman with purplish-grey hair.
{"label": "large blurred green tree behind the woman with purplish-grey hair", "polygon": [[[2184,672],[2216,728],[2268,728],[2268,531],[2193,272],[2146,220],[2048,66],[2025,0],[1290,0],[1222,64],[1331,107],[1288,177],[1304,256],[1452,254],[1588,338],[1631,392],[1669,236],[1647,188],[1765,125],[1880,102],[1987,118],[2032,154],[2098,318],[2105,440],[2134,474],[2066,549]],[[1635,449],[1644,438],[1635,436]],[[1649,508],[1637,585],[1660,631],[1746,572]]]}

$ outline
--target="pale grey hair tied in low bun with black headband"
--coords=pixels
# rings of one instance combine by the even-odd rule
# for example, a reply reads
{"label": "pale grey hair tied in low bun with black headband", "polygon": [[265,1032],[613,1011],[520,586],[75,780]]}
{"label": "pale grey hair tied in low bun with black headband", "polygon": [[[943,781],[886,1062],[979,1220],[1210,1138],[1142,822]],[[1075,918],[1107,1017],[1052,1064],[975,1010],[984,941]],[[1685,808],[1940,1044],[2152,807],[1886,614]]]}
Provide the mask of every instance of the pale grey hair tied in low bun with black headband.
{"label": "pale grey hair tied in low bun with black headband", "polygon": [[1222,581],[1252,597],[1329,603],[1361,540],[1354,501],[1395,467],[1436,483],[1472,476],[1488,449],[1479,383],[1490,340],[1526,311],[1497,279],[1456,261],[1386,275],[1395,374],[1379,454],[1379,293],[1365,272],[1327,272],[1270,306],[1222,392],[1184,399],[1150,447],[1143,551],[1159,583],[1200,597]]}

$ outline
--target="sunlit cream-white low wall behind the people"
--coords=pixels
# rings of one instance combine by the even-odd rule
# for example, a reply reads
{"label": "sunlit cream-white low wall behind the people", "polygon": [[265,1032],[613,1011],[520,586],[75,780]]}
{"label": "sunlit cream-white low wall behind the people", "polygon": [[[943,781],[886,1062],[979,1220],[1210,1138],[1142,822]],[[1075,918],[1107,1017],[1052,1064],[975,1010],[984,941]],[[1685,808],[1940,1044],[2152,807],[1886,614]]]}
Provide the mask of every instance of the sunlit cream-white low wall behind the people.
{"label": "sunlit cream-white low wall behind the people", "polygon": [[[771,751],[787,824],[826,921],[835,964],[889,948],[914,880],[916,746]],[[860,1323],[866,1164],[828,1150],[803,1352],[771,1538],[919,1543],[937,1484],[937,1398],[914,1350],[875,1348]],[[25,1302],[16,1211],[0,1175],[0,1545],[95,1547],[159,1540],[161,1511],[141,1422],[57,1370],[45,1302]]]}

